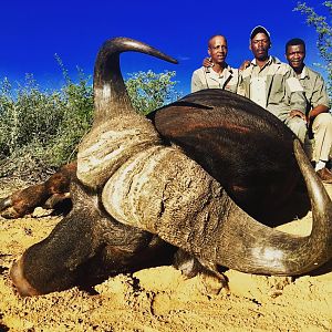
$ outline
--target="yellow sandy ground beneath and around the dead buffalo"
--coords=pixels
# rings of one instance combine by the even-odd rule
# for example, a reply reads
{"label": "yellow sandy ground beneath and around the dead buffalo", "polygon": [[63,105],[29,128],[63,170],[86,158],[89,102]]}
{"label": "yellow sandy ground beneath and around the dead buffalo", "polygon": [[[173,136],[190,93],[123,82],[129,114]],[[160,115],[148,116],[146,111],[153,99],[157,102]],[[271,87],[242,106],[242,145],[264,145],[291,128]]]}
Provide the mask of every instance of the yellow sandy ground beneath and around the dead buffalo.
{"label": "yellow sandy ground beneath and around the dead buffalo", "polygon": [[[332,186],[326,186],[332,196]],[[0,190],[0,197],[12,188]],[[308,234],[311,214],[283,226]],[[0,331],[332,331],[332,262],[300,278],[226,272],[230,293],[173,267],[120,274],[95,286],[20,298],[9,268],[59,222],[38,208],[27,218],[0,218]]]}

